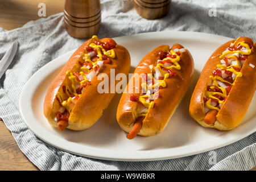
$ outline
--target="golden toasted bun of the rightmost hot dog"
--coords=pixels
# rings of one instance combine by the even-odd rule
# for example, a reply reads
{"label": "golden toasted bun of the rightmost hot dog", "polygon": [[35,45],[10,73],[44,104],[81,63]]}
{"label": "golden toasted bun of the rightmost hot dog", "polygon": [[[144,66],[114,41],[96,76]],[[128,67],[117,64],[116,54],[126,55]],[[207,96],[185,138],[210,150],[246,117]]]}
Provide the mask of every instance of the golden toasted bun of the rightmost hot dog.
{"label": "golden toasted bun of the rightmost hot dog", "polygon": [[[253,42],[249,38],[240,38],[237,43],[242,40],[247,44],[251,44],[251,42]],[[254,44],[253,51],[243,64],[241,69],[242,77],[236,78],[226,101],[222,105],[220,111],[218,111],[216,121],[212,125],[208,125],[204,122],[205,113],[203,97],[204,92],[207,89],[208,82],[210,81],[209,76],[212,75],[213,70],[216,69],[216,65],[220,63],[219,56],[222,55],[222,52],[230,46],[230,43],[234,43],[234,41],[235,40],[225,43],[213,52],[205,64],[199,80],[197,81],[189,105],[189,114],[201,126],[211,127],[220,131],[234,129],[242,122],[250,105],[251,99],[253,98],[256,89],[256,68],[252,68],[250,64],[256,65],[256,44]],[[253,45],[253,43],[251,45]]]}

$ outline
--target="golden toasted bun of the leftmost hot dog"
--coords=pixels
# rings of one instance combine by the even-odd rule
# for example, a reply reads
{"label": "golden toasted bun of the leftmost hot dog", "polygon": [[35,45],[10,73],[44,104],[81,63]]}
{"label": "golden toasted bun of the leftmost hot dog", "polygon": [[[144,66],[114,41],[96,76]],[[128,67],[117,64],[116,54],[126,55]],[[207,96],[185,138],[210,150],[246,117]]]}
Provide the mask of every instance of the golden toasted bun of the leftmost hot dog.
{"label": "golden toasted bun of the leftmost hot dog", "polygon": [[[109,39],[101,39],[101,42],[107,42]],[[48,122],[53,126],[57,126],[55,121],[55,113],[59,110],[60,104],[56,99],[57,92],[63,93],[62,86],[64,82],[68,80],[66,76],[67,71],[75,71],[77,68],[75,64],[79,64],[82,60],[82,55],[85,52],[86,46],[95,42],[96,39],[92,38],[87,40],[82,46],[80,46],[76,52],[70,57],[68,62],[64,65],[63,69],[52,81],[49,87],[46,98],[44,100],[44,115],[48,119]],[[109,78],[110,88],[110,69],[115,69],[115,75],[118,73],[125,73],[126,75],[130,70],[130,54],[126,48],[117,45],[114,48],[115,58],[111,60],[110,64],[104,64],[104,67],[100,70],[100,73],[106,73]],[[102,80],[97,80],[98,75],[93,78],[91,85],[86,86],[84,92],[80,96],[79,100],[73,107],[67,129],[71,130],[85,130],[92,126],[102,115],[102,111],[108,107],[110,101],[114,97],[115,93],[98,93],[97,86]],[[118,81],[115,81],[117,84]],[[66,98],[67,99],[67,98]]]}

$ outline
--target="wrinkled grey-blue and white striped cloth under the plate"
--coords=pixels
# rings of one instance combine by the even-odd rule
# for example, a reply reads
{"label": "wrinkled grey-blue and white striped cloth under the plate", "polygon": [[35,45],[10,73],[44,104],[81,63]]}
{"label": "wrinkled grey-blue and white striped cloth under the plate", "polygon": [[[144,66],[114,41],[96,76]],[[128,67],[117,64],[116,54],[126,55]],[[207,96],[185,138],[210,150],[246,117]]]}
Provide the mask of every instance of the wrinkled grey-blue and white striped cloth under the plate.
{"label": "wrinkled grey-blue and white striped cloth under the plate", "polygon": [[[102,0],[100,37],[151,31],[197,31],[256,40],[256,5],[249,0],[173,0],[170,13],[158,20],[141,18],[130,0]],[[215,3],[215,4],[214,4]],[[217,7],[209,16],[210,7]],[[256,166],[256,133],[229,146],[203,154],[154,162],[113,162],[76,156],[49,146],[28,130],[18,100],[28,78],[48,61],[80,46],[63,26],[63,14],[28,22],[22,28],[0,28],[0,59],[14,40],[19,49],[0,80],[0,117],[20,150],[42,170],[249,170]],[[216,160],[212,156],[216,155]]]}

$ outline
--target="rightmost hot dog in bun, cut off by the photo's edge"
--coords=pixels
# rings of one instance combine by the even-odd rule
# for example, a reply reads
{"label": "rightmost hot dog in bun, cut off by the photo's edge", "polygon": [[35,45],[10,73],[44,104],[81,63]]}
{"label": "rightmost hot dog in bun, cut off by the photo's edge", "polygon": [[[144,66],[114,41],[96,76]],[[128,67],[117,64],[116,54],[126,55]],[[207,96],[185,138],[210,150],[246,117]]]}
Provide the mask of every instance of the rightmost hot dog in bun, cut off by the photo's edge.
{"label": "rightmost hot dog in bun, cut off by the photo's edge", "polygon": [[256,88],[255,50],[253,40],[242,37],[210,56],[189,105],[200,125],[226,131],[242,122]]}

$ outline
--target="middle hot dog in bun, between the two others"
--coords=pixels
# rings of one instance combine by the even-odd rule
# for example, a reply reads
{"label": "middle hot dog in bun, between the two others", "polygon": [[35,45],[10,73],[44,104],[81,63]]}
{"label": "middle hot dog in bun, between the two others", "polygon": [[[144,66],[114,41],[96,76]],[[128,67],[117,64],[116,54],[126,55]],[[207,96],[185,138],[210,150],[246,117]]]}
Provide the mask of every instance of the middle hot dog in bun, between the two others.
{"label": "middle hot dog in bun, between the two others", "polygon": [[156,47],[141,60],[117,109],[118,124],[129,133],[128,139],[163,131],[188,88],[193,65],[180,44]]}

